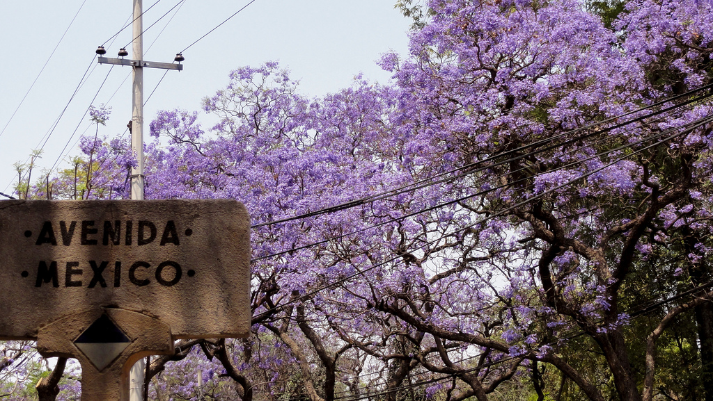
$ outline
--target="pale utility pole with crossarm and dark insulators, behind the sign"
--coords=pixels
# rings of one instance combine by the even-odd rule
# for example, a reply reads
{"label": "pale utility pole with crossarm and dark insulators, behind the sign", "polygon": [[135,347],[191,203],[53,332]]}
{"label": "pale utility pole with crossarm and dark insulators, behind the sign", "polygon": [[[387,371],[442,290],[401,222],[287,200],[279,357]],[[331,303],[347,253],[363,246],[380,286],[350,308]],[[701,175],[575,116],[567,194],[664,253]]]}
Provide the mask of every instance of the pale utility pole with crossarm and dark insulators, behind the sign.
{"label": "pale utility pole with crossarm and dark insulators, behind the sign", "polygon": [[[180,64],[184,60],[181,54],[177,54],[174,63],[155,63],[143,60],[143,0],[133,0],[133,24],[132,24],[132,51],[133,59],[123,58],[128,52],[121,48],[119,56],[121,58],[102,57],[106,53],[103,46],[99,46],[96,53],[99,55],[100,64],[114,64],[120,66],[133,67],[132,83],[132,115],[130,123],[131,150],[136,155],[136,166],[131,169],[131,199],[143,200],[144,192],[144,158],[143,158],[143,68],[163,68],[167,70],[183,70]],[[145,378],[145,363],[143,358],[133,365],[130,371],[130,401],[143,401]]]}

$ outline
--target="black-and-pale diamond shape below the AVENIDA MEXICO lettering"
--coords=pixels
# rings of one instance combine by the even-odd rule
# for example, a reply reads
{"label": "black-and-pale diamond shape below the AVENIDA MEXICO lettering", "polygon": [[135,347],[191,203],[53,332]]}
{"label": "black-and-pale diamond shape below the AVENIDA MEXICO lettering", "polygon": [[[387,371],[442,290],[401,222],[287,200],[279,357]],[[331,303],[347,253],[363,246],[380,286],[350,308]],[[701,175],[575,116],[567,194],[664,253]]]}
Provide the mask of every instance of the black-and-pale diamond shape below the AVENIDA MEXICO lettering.
{"label": "black-and-pale diamond shape below the AVENIDA MEXICO lettering", "polygon": [[131,340],[106,316],[100,316],[74,340],[79,350],[98,370],[103,370],[126,349]]}

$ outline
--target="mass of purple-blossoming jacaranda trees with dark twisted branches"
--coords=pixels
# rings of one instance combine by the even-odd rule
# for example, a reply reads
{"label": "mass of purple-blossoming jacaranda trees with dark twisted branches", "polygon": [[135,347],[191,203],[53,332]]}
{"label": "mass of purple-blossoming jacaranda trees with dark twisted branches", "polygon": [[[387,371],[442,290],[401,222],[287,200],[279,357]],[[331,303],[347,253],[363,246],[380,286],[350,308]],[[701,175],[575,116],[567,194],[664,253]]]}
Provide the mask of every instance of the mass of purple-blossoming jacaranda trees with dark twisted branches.
{"label": "mass of purple-blossoming jacaranda trees with dark twisted branches", "polygon": [[[252,338],[184,340],[152,394],[712,401],[712,4],[399,6],[392,85],[266,63],[151,124],[147,198],[254,224]],[[127,196],[98,138],[55,194]]]}

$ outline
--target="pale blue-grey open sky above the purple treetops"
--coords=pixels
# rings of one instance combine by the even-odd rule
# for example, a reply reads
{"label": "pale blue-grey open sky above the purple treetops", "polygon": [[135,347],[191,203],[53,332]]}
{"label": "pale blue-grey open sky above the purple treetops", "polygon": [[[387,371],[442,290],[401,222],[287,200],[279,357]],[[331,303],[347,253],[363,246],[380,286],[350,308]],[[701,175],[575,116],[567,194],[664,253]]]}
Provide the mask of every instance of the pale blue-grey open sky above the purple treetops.
{"label": "pale blue-grey open sky above the purple treetops", "polygon": [[[144,69],[144,100],[153,92],[144,110],[145,140],[158,110],[200,110],[202,98],[225,87],[230,71],[240,66],[279,61],[308,97],[346,88],[358,73],[389,83],[391,74],[376,61],[389,51],[406,54],[409,42],[409,20],[394,9],[395,2],[255,0],[190,46],[250,0],[143,0],[145,61],[171,63],[190,46],[183,51],[183,71]],[[114,58],[126,46],[127,58],[132,56],[131,28],[121,31],[130,24],[132,4],[4,1],[0,192],[11,193],[17,181],[14,165],[26,163],[33,150],[43,151],[34,177],[43,170],[67,168],[66,161],[79,154],[78,137],[96,130],[85,115],[90,105],[112,108],[99,135],[128,135],[131,68],[99,65],[95,51],[103,44],[106,57]]]}

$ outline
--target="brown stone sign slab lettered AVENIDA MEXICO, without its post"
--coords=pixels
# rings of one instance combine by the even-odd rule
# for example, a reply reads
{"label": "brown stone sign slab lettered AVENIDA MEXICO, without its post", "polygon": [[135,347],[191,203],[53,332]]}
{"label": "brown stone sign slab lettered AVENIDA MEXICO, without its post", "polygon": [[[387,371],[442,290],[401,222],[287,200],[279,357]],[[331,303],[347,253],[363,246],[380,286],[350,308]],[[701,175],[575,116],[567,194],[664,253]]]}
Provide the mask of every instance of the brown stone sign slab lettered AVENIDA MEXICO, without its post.
{"label": "brown stone sign slab lettered AVENIDA MEXICO, without its post", "polygon": [[250,218],[234,200],[0,201],[1,339],[92,311],[70,340],[101,370],[113,354],[96,344],[133,340],[107,308],[172,338],[244,337],[249,296]]}

